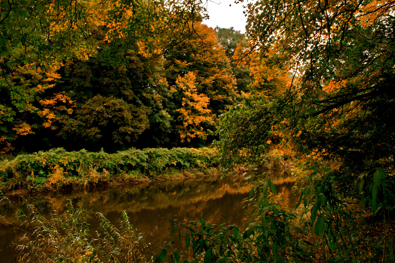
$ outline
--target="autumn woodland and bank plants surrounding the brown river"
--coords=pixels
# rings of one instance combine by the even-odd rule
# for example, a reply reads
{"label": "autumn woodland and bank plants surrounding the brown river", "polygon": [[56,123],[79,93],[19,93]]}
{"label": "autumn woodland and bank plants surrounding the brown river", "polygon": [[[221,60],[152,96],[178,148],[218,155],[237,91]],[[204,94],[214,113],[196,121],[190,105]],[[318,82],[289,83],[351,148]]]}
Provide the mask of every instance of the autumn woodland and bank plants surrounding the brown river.
{"label": "autumn woodland and bank plants surrounding the brown river", "polygon": [[[243,166],[256,209],[245,230],[172,221],[186,251],[133,260],[126,212],[124,232],[98,215],[100,245],[83,209],[56,226],[85,243],[23,214],[58,252],[32,235],[21,262],[395,262],[395,2],[231,4],[245,34],[206,26],[203,0],[1,1],[2,192]],[[296,208],[273,160],[292,163]]]}

